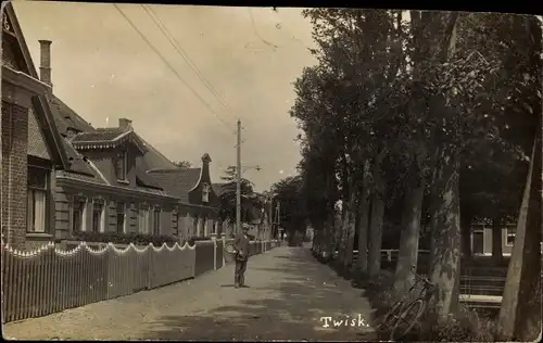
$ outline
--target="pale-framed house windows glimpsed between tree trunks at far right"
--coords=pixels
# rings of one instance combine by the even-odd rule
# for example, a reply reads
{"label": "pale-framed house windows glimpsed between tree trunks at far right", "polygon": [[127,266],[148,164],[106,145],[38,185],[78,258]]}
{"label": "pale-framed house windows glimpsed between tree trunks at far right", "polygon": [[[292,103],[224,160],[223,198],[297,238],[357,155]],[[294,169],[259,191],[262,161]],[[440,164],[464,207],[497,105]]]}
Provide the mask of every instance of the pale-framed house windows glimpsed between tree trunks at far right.
{"label": "pale-framed house windows glimpsed between tree trunks at far right", "polygon": [[[516,224],[508,224],[502,228],[502,254],[510,256],[515,243]],[[471,226],[471,252],[475,256],[492,255],[492,227],[485,224]]]}

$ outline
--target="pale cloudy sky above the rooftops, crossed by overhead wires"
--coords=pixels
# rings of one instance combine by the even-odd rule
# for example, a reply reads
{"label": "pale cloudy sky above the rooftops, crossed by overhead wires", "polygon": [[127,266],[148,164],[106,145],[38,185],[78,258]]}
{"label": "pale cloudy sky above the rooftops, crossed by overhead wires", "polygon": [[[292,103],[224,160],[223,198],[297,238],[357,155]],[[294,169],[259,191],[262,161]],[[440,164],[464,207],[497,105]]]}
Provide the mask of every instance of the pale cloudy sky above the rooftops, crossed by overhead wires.
{"label": "pale cloudy sky above the rooftops, crossed by overhead wires", "polygon": [[[218,182],[236,164],[240,118],[243,177],[263,191],[295,174],[292,82],[316,62],[301,9],[151,4],[149,12],[172,34],[184,60],[146,8],[117,4],[177,77],[111,3],[13,4],[36,67],[38,40],[52,40],[53,92],[92,126],[113,127],[126,117],[172,161],[198,166],[209,153]],[[251,168],[256,165],[260,172]]]}

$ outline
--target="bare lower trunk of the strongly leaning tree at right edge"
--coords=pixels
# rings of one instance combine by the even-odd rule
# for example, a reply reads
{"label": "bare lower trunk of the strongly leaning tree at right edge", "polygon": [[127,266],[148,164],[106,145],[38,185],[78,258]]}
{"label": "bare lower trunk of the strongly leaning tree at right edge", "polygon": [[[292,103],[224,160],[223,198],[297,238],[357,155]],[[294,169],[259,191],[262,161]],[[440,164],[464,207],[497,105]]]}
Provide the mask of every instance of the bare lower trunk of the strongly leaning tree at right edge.
{"label": "bare lower trunk of the strongly leaning tree at right edge", "polygon": [[[538,134],[541,135],[541,134]],[[541,137],[536,138],[515,232],[515,244],[500,308],[504,340],[533,340],[541,330]],[[533,183],[533,185],[532,185]],[[539,328],[538,328],[539,327]]]}

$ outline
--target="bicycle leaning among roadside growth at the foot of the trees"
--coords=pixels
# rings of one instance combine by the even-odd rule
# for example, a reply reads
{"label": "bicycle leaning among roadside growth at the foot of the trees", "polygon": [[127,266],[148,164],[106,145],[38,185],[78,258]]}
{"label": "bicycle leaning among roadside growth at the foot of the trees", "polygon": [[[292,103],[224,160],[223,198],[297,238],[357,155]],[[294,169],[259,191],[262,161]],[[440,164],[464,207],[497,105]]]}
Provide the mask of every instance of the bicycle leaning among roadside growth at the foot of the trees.
{"label": "bicycle leaning among roadside growth at the foot of the trees", "polygon": [[[416,267],[412,267],[412,270],[414,269]],[[419,288],[419,292],[415,300],[407,301],[407,296],[417,288]],[[388,332],[389,340],[400,340],[413,329],[426,310],[434,288],[428,278],[415,272],[415,283],[378,322],[379,329],[386,327],[384,331]]]}

